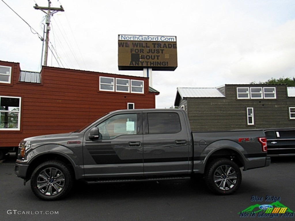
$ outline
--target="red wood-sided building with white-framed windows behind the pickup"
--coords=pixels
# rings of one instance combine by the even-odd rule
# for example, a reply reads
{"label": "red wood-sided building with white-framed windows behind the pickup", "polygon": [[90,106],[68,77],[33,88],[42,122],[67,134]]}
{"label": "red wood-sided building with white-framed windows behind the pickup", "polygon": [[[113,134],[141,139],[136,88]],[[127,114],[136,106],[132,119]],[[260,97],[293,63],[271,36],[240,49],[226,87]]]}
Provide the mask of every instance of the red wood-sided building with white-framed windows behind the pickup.
{"label": "red wood-sided building with white-framed windows behind the pickup", "polygon": [[19,63],[0,61],[0,147],[75,131],[112,110],[155,108],[159,92],[148,82],[146,77],[57,67],[27,72]]}

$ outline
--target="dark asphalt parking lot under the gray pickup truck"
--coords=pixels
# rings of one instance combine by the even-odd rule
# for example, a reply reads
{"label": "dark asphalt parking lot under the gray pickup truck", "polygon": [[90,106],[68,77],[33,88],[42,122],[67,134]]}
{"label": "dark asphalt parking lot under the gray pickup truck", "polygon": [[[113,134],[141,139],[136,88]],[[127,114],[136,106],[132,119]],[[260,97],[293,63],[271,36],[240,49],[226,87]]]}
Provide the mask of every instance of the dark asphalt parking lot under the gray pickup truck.
{"label": "dark asphalt parking lot under the gray pickup truck", "polygon": [[272,158],[269,167],[243,171],[240,189],[229,196],[211,194],[203,180],[196,179],[77,183],[67,198],[46,202],[35,197],[30,182],[23,185],[13,168],[13,155],[0,163],[0,220],[295,220],[291,212],[273,217],[240,213],[275,202],[295,211],[294,157]]}

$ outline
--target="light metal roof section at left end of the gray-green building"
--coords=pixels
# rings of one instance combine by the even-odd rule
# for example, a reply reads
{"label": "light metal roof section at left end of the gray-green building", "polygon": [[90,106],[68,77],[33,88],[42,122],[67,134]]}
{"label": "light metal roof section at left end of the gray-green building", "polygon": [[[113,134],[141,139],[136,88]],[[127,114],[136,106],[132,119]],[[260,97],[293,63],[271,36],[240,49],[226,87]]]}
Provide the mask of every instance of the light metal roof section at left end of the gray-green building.
{"label": "light metal roof section at left end of the gray-green building", "polygon": [[224,98],[217,88],[177,88],[181,98]]}

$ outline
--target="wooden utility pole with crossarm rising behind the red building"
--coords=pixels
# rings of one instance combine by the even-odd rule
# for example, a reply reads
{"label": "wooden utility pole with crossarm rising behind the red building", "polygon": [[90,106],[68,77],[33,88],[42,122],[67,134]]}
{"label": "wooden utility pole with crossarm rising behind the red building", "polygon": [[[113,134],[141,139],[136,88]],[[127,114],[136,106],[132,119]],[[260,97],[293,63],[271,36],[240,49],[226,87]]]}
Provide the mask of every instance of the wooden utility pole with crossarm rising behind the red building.
{"label": "wooden utility pole with crossarm rising behind the red building", "polygon": [[[50,7],[51,1],[48,0],[48,7],[39,7],[35,4],[34,9],[40,9],[46,14],[45,23],[47,25],[46,28],[46,39],[45,39],[45,54],[44,54],[44,66],[47,66],[47,57],[48,57],[48,42],[49,42],[49,31],[50,31],[50,16],[53,16],[54,13],[58,11],[65,11],[63,10],[63,6],[60,8],[51,8]],[[45,11],[47,10],[47,11]]]}

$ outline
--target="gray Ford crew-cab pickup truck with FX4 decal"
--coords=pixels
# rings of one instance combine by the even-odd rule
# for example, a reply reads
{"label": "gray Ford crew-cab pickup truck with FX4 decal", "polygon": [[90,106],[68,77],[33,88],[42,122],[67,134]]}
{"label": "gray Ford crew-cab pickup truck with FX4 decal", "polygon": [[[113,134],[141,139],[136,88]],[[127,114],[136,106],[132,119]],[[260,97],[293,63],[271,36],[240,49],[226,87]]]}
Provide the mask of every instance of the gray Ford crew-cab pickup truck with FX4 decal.
{"label": "gray Ford crew-cab pickup truck with FX4 decal", "polygon": [[40,199],[65,197],[75,180],[88,183],[188,179],[204,174],[209,189],[231,194],[243,170],[270,165],[262,130],[191,132],[186,112],[111,112],[66,134],[26,138],[15,173]]}

